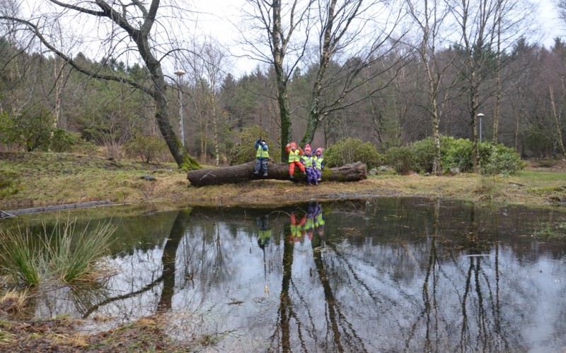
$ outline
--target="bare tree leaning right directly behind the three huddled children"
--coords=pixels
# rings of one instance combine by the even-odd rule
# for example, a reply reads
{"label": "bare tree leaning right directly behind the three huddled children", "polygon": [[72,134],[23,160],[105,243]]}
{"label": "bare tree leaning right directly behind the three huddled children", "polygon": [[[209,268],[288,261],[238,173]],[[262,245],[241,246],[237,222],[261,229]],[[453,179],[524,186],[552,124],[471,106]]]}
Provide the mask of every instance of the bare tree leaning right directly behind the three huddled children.
{"label": "bare tree leaning right directly behind the three huddled children", "polygon": [[[391,60],[389,54],[398,44],[393,32],[398,29],[401,11],[388,13],[387,4],[383,0],[318,0],[318,23],[314,27],[318,30],[317,70],[301,144],[313,141],[320,121],[362,102],[391,83],[383,80],[366,95],[345,101],[357,90],[366,91],[366,83],[375,83],[378,76],[400,67],[403,56]],[[329,70],[332,61],[339,64],[336,70]]]}

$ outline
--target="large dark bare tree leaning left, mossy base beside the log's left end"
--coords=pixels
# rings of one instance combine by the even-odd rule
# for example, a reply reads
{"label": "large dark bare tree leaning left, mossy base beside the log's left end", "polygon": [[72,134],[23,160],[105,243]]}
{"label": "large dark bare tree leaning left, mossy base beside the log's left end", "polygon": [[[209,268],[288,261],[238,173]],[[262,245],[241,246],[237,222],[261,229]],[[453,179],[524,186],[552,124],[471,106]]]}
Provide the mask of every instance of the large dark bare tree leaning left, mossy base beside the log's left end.
{"label": "large dark bare tree leaning left, mossy base beside the log's left end", "polygon": [[[160,0],[149,1],[149,7],[145,1],[134,0],[130,4],[122,4],[115,1],[90,0],[82,1],[80,4],[50,0],[54,6],[54,12],[50,13],[51,8],[45,7],[45,12],[39,16],[6,16],[2,14],[0,21],[4,24],[13,25],[13,30],[18,30],[18,25],[33,32],[35,37],[47,47],[51,52],[57,54],[64,61],[69,63],[77,71],[84,73],[92,78],[102,80],[114,80],[126,83],[134,89],[141,90],[149,95],[155,102],[155,119],[163,139],[180,167],[196,169],[198,162],[188,155],[178,136],[173,131],[173,126],[169,120],[168,97],[166,95],[166,78],[163,74],[161,61],[176,48],[165,48],[167,42],[165,38],[171,35],[168,31],[171,28],[161,27],[163,23],[158,22],[158,10]],[[81,66],[75,61],[72,54],[65,52],[64,49],[57,47],[57,40],[54,39],[50,30],[50,22],[53,18],[61,16],[73,16],[74,23],[95,23],[96,30],[102,34],[98,37],[100,49],[106,49],[106,58],[112,56],[128,55],[132,52],[139,55],[139,59],[144,62],[151,83],[139,83],[123,76],[103,74],[100,71]],[[69,20],[69,17],[66,18]],[[165,20],[161,16],[160,20]],[[164,42],[160,42],[163,40]],[[92,44],[91,44],[92,45]],[[158,57],[162,55],[163,57]]]}

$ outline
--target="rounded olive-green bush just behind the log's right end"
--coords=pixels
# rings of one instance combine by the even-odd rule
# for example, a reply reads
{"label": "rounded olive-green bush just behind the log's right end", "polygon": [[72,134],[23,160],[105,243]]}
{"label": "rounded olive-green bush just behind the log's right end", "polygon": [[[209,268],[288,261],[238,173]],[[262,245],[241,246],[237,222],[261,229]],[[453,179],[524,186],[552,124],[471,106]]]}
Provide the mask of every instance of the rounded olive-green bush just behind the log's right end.
{"label": "rounded olive-green bush just behind the log's right end", "polygon": [[374,145],[364,143],[359,138],[345,138],[330,145],[324,152],[324,163],[327,167],[362,162],[371,169],[381,164],[382,159]]}

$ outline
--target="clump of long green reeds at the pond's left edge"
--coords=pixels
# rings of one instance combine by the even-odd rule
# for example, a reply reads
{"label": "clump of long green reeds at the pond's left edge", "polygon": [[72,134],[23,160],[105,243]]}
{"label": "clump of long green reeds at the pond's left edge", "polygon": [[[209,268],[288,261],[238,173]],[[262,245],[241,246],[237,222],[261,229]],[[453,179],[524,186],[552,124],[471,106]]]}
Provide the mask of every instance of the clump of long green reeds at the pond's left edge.
{"label": "clump of long green reeds at the pond's left edge", "polygon": [[110,223],[89,228],[76,229],[76,223],[68,220],[64,225],[57,222],[50,233],[45,224],[35,235],[27,229],[0,230],[0,261],[15,282],[25,285],[35,286],[46,279],[87,280],[96,273],[96,260],[106,253],[115,231]]}

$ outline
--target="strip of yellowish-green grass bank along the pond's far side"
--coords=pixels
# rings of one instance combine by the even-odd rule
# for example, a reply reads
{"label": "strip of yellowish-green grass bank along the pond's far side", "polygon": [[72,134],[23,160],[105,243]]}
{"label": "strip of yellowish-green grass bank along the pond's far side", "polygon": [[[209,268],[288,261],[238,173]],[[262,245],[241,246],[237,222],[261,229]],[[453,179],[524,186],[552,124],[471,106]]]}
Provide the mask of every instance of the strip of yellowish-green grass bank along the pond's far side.
{"label": "strip of yellowish-green grass bank along the pond's far side", "polygon": [[[186,172],[173,163],[115,162],[65,153],[0,152],[0,175],[10,179],[4,181],[4,189],[0,185],[0,194],[4,196],[0,210],[103,200],[170,208],[172,205],[282,205],[361,196],[422,196],[543,206],[566,198],[565,172],[534,169],[512,176],[497,175],[489,180],[478,174],[443,177],[378,174],[354,183],[323,181],[316,188],[276,180],[197,188],[190,186]],[[156,181],[141,179],[144,175],[152,175]]]}

